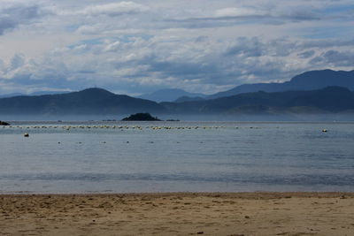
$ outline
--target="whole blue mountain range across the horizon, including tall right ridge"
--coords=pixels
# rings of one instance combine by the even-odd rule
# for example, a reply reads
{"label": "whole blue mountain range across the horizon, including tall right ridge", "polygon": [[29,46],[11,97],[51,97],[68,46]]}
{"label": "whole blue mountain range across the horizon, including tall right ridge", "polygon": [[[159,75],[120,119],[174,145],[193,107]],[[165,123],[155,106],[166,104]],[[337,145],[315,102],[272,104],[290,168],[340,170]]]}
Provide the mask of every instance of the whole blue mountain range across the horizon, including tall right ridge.
{"label": "whole blue mountain range across the horizon, including tall right ridge", "polygon": [[[334,84],[341,87],[333,86]],[[187,98],[185,100],[179,99],[176,102],[156,103],[128,95],[115,95],[102,88],[88,88],[80,92],[58,95],[20,95],[0,99],[0,114],[117,115],[150,112],[151,114],[169,115],[235,115],[242,113],[352,113],[354,110],[354,93],[350,90],[353,88],[354,71],[334,72],[324,70],[305,72],[284,83],[243,85],[219,93],[219,95],[225,95],[223,97],[195,97],[194,101],[189,101]],[[252,92],[242,93],[242,91],[249,90]],[[234,95],[235,93],[236,95]]]}

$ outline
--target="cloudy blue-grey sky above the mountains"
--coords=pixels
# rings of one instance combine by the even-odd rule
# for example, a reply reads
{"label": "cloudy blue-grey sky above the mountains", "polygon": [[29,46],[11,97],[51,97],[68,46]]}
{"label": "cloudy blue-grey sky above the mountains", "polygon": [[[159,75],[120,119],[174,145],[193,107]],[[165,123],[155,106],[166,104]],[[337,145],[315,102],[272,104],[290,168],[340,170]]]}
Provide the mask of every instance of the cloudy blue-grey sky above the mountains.
{"label": "cloudy blue-grey sky above the mountains", "polygon": [[353,70],[352,0],[0,0],[0,94],[213,94]]}

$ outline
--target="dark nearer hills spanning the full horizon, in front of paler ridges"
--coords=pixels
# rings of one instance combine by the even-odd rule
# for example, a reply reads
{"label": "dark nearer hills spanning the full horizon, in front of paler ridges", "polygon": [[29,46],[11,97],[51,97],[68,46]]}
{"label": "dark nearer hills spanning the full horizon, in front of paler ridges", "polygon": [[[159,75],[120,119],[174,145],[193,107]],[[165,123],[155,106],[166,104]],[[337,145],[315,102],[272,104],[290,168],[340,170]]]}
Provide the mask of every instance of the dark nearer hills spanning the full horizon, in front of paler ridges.
{"label": "dark nearer hills spanning the full horizon, in front of paler ridges", "polygon": [[14,96],[0,99],[0,115],[119,115],[150,112],[177,115],[354,113],[354,92],[327,87],[310,91],[244,93],[182,103],[155,103],[115,95],[102,88],[60,95]]}

